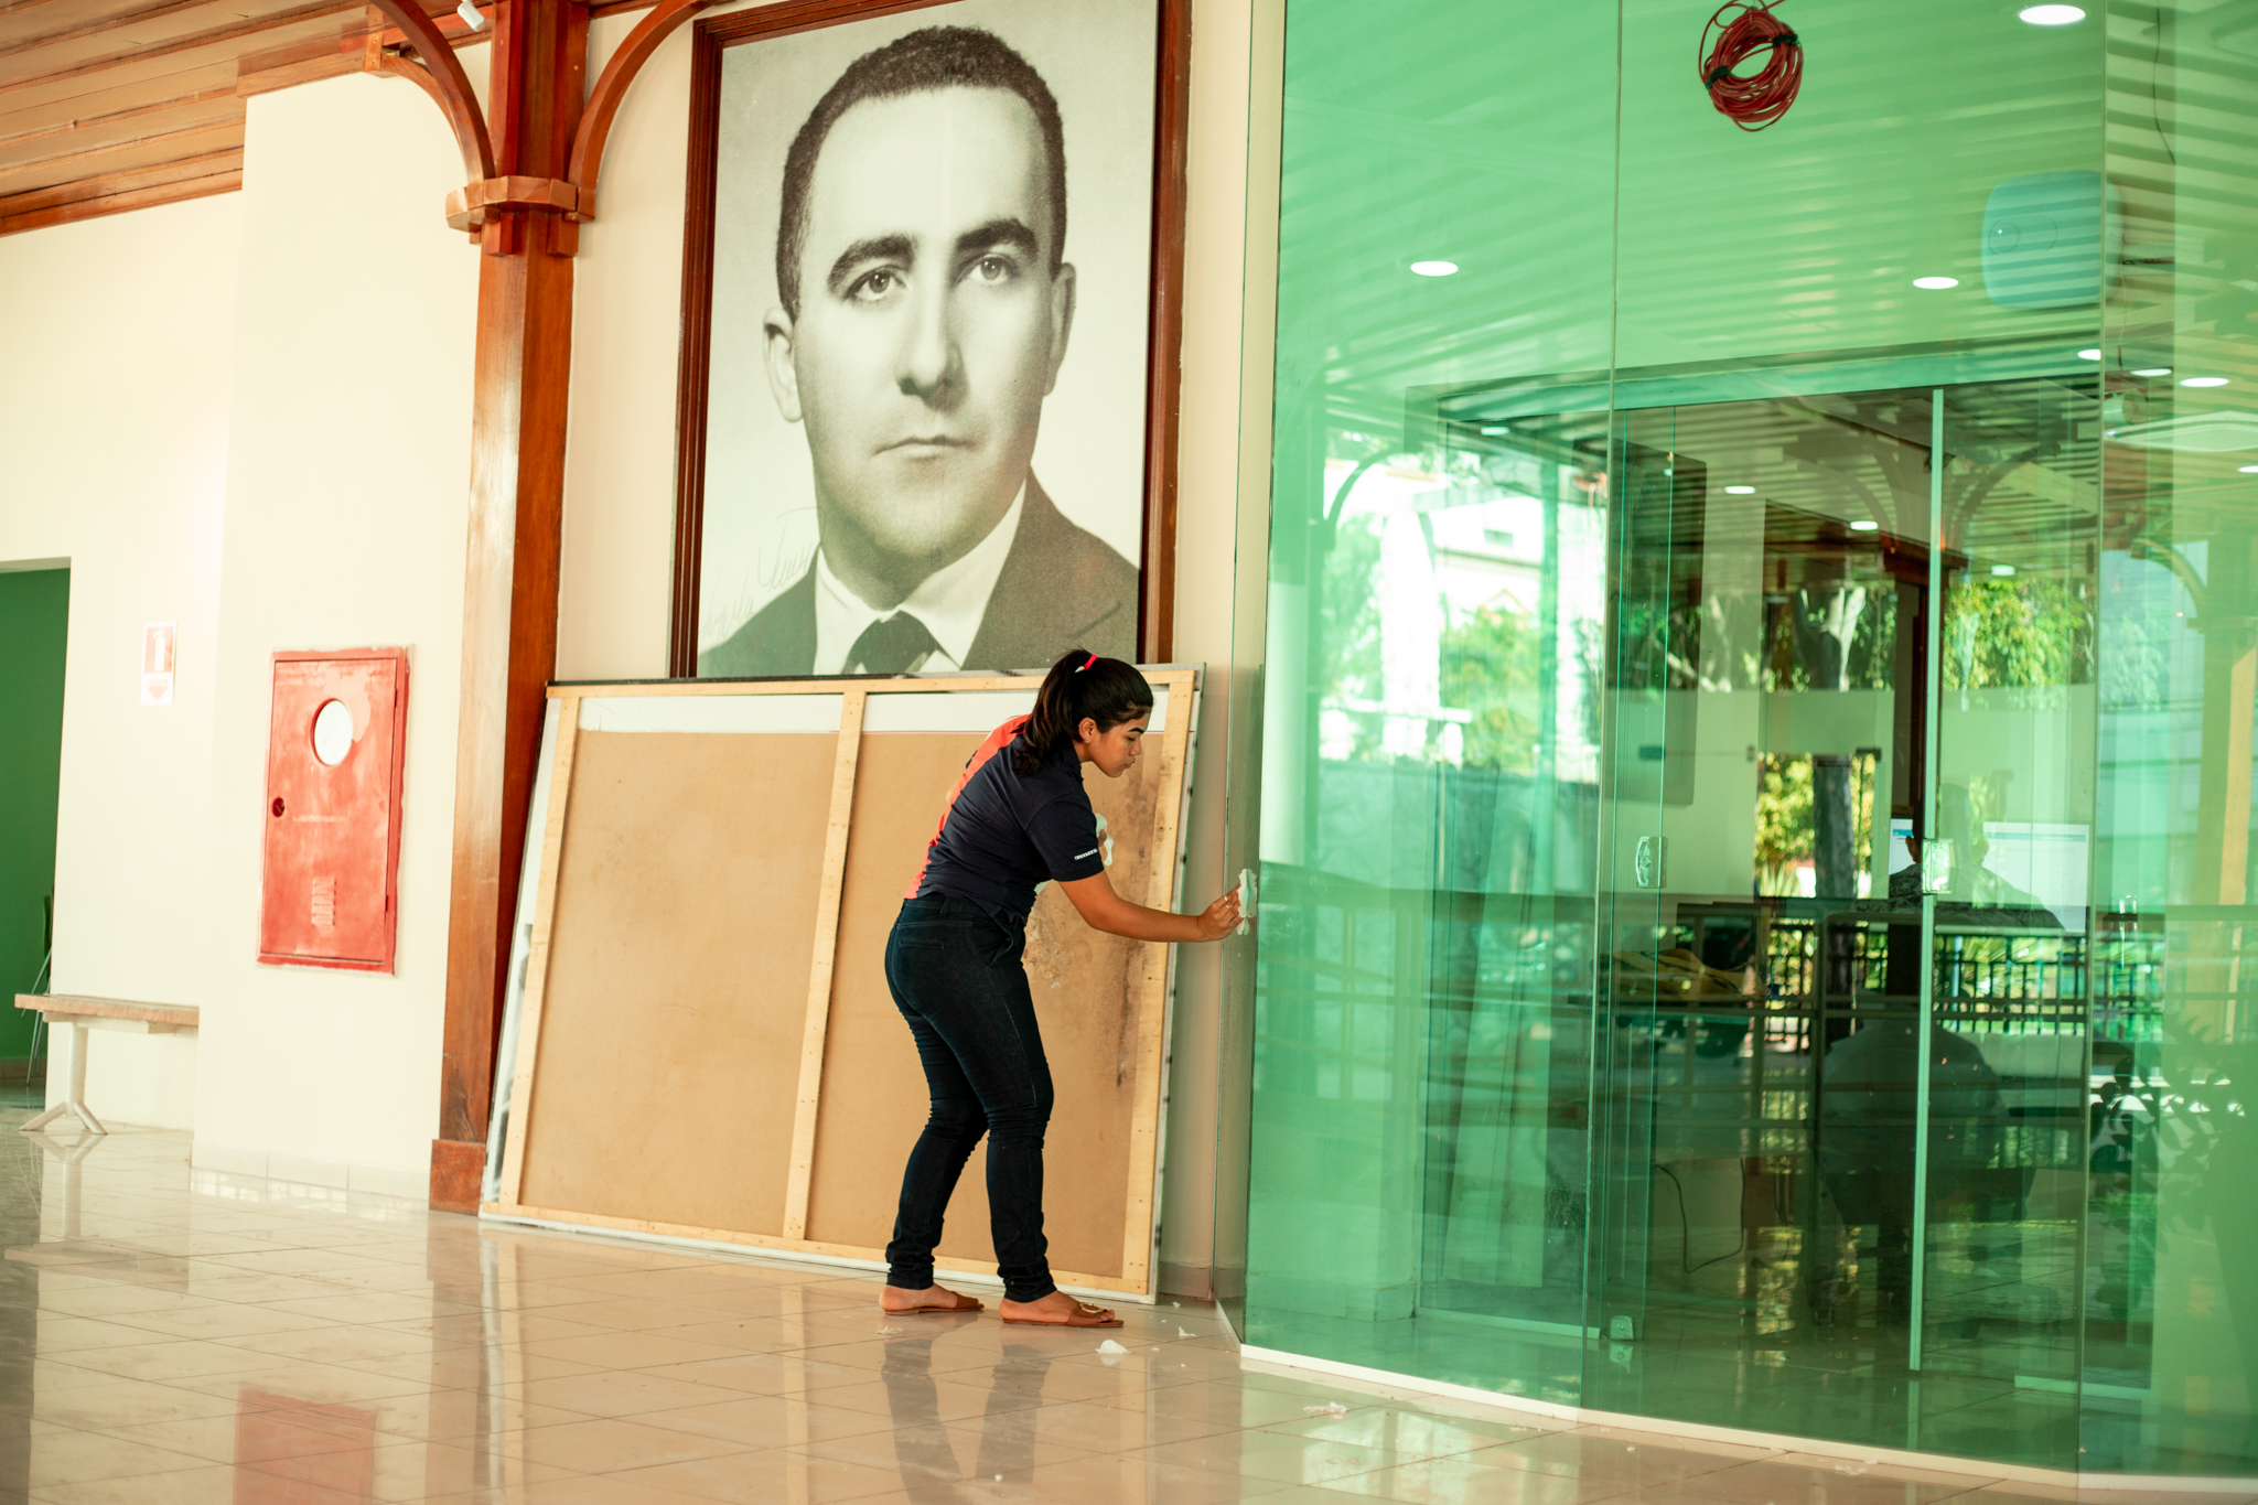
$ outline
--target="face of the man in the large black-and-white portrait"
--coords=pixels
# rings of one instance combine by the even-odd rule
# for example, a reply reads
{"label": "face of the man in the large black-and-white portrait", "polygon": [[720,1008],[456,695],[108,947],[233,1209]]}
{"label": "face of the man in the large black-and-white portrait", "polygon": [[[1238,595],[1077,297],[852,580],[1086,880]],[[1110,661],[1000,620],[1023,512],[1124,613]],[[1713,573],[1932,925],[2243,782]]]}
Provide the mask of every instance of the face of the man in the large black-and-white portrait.
{"label": "face of the man in the large black-and-white portrait", "polygon": [[865,99],[815,158],[768,377],[808,431],[824,555],[865,596],[969,553],[1027,476],[1075,314],[1045,183],[1034,111],[1000,88]]}

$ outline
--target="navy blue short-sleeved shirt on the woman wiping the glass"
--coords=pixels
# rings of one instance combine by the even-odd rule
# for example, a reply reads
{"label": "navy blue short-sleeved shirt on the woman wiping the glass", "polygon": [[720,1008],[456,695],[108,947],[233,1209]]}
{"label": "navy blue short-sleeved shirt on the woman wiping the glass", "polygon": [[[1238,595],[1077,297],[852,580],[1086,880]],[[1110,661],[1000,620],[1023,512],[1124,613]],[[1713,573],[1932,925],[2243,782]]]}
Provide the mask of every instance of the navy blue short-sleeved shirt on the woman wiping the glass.
{"label": "navy blue short-sleeved shirt on the woman wiping the glass", "polygon": [[1014,715],[964,763],[908,898],[955,894],[1025,918],[1045,878],[1075,882],[1106,871],[1082,760],[1066,745],[1034,774],[1021,774],[1014,754],[1025,747],[1025,724]]}

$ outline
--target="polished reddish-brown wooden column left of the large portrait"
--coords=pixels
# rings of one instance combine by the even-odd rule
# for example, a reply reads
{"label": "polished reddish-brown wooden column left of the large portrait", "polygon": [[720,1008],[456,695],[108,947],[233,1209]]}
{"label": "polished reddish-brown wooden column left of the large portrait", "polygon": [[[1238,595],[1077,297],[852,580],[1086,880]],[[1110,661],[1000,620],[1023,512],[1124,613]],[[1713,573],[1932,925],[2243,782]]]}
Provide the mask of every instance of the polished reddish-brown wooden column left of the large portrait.
{"label": "polished reddish-brown wooden column left of the large portrait", "polygon": [[[587,9],[501,0],[488,122],[501,176],[564,178],[580,122]],[[479,230],[463,706],[456,731],[447,1022],[431,1205],[476,1212],[495,1033],[526,803],[555,672],[564,397],[571,377],[571,241],[540,210],[488,212]]]}

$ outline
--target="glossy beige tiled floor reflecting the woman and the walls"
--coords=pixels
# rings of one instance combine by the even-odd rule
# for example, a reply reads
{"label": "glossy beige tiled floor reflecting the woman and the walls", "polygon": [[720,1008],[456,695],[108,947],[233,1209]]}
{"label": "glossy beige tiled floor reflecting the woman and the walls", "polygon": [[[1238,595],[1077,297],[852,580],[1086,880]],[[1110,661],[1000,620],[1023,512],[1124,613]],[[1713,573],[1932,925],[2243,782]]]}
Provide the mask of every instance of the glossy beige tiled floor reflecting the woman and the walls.
{"label": "glossy beige tiled floor reflecting the woman and the walls", "polygon": [[885,1318],[874,1277],[192,1173],[169,1133],[0,1135],[0,1500],[2073,1498],[1260,1372],[1194,1304],[1127,1309],[1127,1354]]}

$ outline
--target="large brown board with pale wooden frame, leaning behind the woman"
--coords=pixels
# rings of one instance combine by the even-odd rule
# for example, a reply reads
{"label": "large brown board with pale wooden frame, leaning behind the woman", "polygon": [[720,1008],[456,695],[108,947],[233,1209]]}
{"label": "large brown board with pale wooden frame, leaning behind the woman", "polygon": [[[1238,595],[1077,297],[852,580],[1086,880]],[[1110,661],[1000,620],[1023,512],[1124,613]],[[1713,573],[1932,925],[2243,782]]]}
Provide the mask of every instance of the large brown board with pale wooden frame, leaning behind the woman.
{"label": "large brown board with pale wooden frame, leaning behind the woman", "polygon": [[[1145,670],[1127,778],[1084,769],[1113,887],[1174,907],[1197,670]],[[1030,677],[560,686],[488,1216],[876,1264],[926,1083],[885,941],[964,760]],[[1165,945],[1045,891],[1025,970],[1064,1286],[1149,1297]],[[939,1261],[994,1268],[984,1155]]]}

